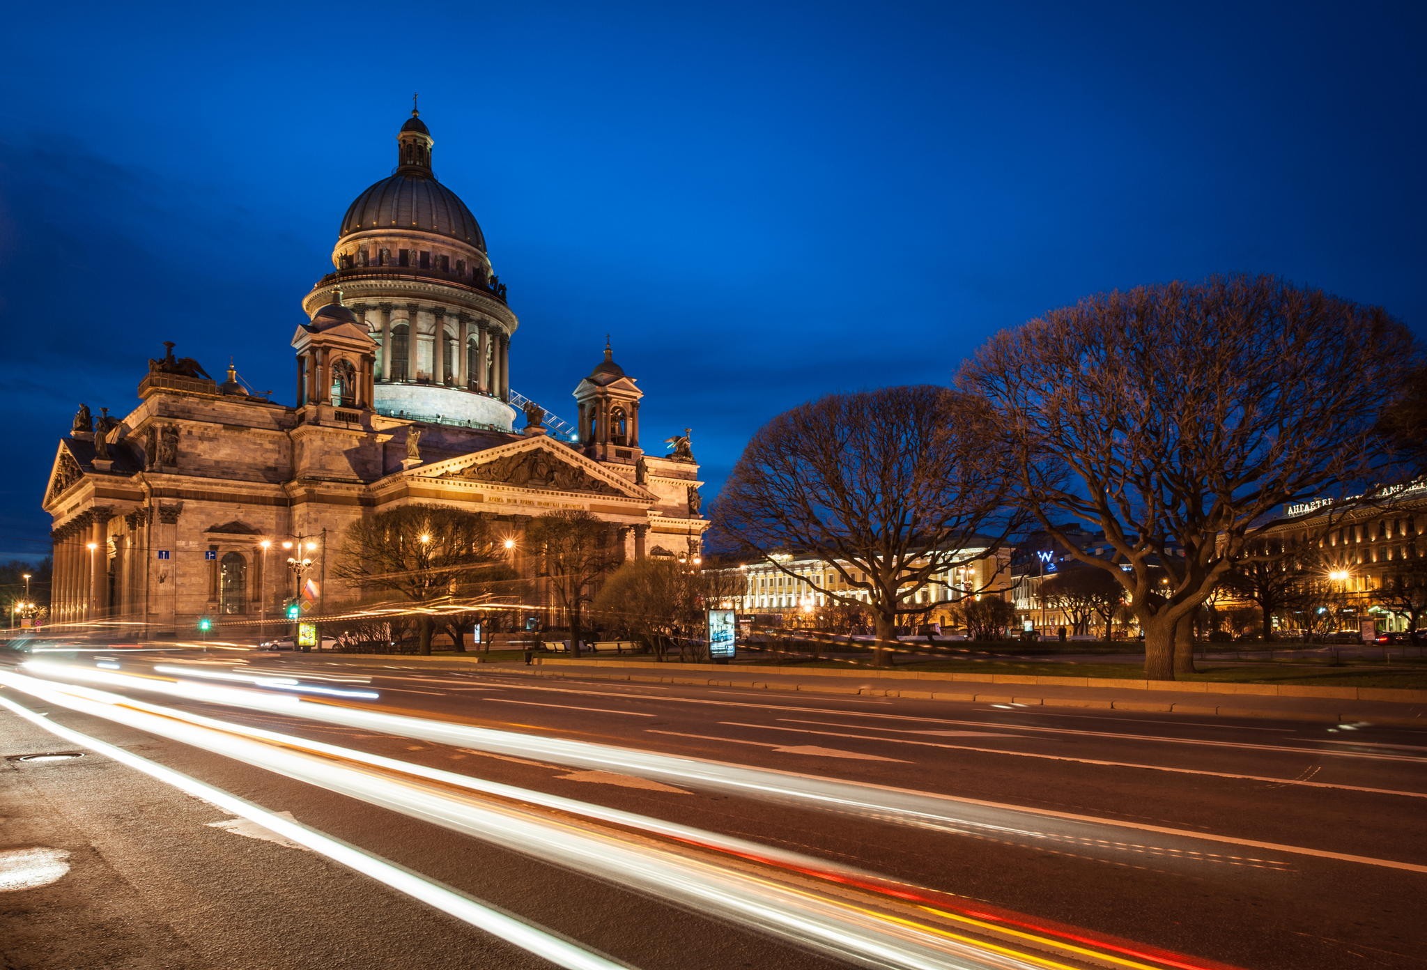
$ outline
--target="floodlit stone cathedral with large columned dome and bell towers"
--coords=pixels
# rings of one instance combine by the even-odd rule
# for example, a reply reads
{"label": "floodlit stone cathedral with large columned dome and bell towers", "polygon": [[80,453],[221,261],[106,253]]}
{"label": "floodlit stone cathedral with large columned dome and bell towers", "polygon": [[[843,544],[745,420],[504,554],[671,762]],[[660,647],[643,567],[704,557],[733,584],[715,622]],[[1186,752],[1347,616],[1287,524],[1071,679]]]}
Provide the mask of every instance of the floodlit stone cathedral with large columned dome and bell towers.
{"label": "floodlit stone cathedral with large columned dome and bell towers", "polygon": [[278,619],[304,573],[324,578],[332,612],[358,596],[325,562],[345,529],[417,502],[489,516],[525,572],[525,525],[559,509],[608,522],[625,556],[696,553],[706,521],[688,431],[645,454],[644,392],[608,340],[574,389],[574,427],[511,389],[519,321],[431,147],[412,110],[395,171],[347,208],[332,272],[291,335],[291,405],[166,344],[127,415],[80,407],[44,494],[51,625],[241,628]]}

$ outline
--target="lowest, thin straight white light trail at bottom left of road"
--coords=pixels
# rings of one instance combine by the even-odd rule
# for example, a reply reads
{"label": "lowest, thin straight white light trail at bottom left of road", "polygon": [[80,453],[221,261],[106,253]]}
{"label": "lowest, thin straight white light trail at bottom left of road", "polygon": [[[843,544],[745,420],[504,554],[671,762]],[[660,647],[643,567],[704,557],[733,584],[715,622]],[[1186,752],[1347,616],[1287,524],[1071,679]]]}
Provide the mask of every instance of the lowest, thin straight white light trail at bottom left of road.
{"label": "lowest, thin straight white light trail at bottom left of road", "polygon": [[380,856],[374,856],[357,849],[355,846],[332,839],[331,836],[301,824],[300,822],[290,822],[274,812],[268,812],[263,806],[248,802],[247,799],[240,799],[230,792],[224,792],[223,789],[200,782],[195,777],[176,772],[166,765],[148,760],[147,757],[140,757],[138,755],[124,750],[123,747],[117,747],[97,737],[91,737],[90,735],[84,735],[66,728],[64,725],[56,723],[50,718],[17,705],[9,698],[0,696],[0,706],[11,710],[20,718],[24,718],[30,723],[43,728],[51,735],[57,735],[59,737],[63,737],[73,745],[78,745],[80,747],[88,747],[96,753],[137,769],[150,777],[164,782],[166,785],[171,785],[181,792],[187,792],[194,797],[215,805],[225,812],[231,812],[238,817],[254,822],[264,829],[283,836],[284,839],[290,839],[291,842],[305,846],[313,852],[331,859],[332,862],[341,863],[348,869],[375,879],[384,886],[421,900],[422,903],[427,903],[448,916],[454,916],[468,926],[484,930],[491,936],[527,950],[528,953],[544,957],[557,966],[568,967],[569,970],[618,970],[619,967],[626,966],[606,960],[596,953],[591,953],[589,950],[578,947],[535,926],[494,910],[471,896],[458,893],[447,886],[442,886],[441,883],[425,879],[410,869],[404,869]]}

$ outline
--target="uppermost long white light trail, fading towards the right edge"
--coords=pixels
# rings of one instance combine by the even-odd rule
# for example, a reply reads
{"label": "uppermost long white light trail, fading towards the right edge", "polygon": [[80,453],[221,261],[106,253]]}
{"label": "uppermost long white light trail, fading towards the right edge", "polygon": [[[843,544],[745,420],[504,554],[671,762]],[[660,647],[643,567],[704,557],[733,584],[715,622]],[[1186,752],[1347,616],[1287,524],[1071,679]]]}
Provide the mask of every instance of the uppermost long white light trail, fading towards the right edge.
{"label": "uppermost long white light trail, fading towards the right edge", "polygon": [[[187,700],[207,700],[253,710],[267,710],[325,723],[414,737],[454,747],[539,759],[595,770],[649,777],[679,787],[701,787],[736,795],[793,802],[818,809],[856,815],[878,822],[956,834],[985,836],[999,842],[1053,852],[1073,852],[1113,862],[1144,860],[1179,866],[1232,864],[1281,867],[1281,859],[1260,853],[1327,859],[1363,866],[1427,873],[1427,866],[1391,859],[1239,839],[1234,836],[1192,832],[1124,819],[1036,809],[983,799],[918,792],[893,786],[831,780],[768,767],[731,765],[686,755],[616,747],[594,742],[548,737],[542,735],[477,728],[432,720],[412,715],[370,710],[338,703],[298,702],[261,692],[207,685],[173,685],[164,680],[94,670],[49,660],[27,660],[24,669],[91,683],[118,685],[138,690],[168,693]],[[0,675],[3,679],[3,675]],[[1133,833],[1133,836],[1126,836]],[[1133,840],[1129,840],[1133,837]],[[1224,850],[1230,846],[1232,850]],[[1251,850],[1254,854],[1247,854]]]}

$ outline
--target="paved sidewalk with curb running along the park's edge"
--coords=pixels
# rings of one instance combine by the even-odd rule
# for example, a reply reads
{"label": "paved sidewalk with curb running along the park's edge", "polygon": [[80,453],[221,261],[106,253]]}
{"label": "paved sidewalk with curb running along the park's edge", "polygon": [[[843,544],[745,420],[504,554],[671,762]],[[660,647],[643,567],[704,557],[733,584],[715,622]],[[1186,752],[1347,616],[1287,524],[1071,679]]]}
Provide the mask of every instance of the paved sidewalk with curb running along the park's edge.
{"label": "paved sidewalk with curb running along the park's edge", "polygon": [[[973,675],[965,673],[932,675],[838,669],[789,670],[789,668],[641,663],[557,658],[537,658],[535,666],[525,666],[524,663],[489,663],[482,666],[504,673],[528,676],[578,676],[629,683],[678,683],[841,696],[1144,710],[1196,715],[1200,718],[1256,718],[1427,729],[1427,690],[1279,688],[1276,685],[1256,683],[1162,680],[1130,680],[1106,685],[1097,683],[1093,678],[1009,678],[1006,675],[996,675],[995,678],[976,679]],[[1046,680],[1059,683],[1045,683]]]}

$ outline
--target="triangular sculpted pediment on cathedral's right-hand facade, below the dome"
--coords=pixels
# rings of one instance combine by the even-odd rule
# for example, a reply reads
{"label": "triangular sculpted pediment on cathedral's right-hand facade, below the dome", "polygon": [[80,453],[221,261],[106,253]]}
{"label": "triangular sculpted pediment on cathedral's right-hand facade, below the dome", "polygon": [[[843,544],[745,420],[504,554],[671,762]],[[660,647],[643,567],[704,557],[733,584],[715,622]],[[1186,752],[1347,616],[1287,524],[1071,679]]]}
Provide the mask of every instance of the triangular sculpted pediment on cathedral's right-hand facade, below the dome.
{"label": "triangular sculpted pediment on cathedral's right-hand facade, below the dome", "polygon": [[619,478],[599,462],[544,435],[422,465],[408,474],[420,478],[512,485],[552,492],[609,495],[641,502],[656,501],[648,489]]}

